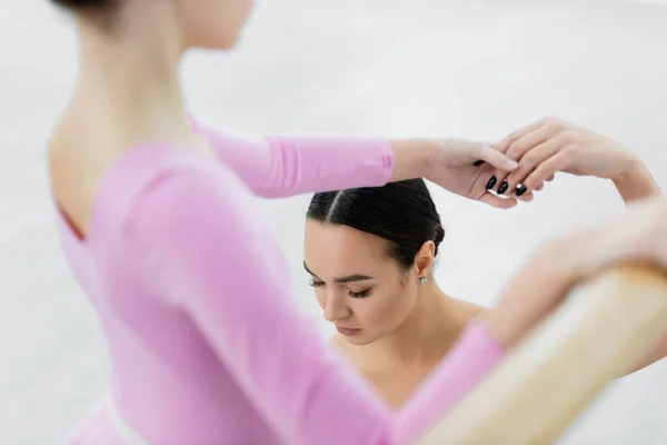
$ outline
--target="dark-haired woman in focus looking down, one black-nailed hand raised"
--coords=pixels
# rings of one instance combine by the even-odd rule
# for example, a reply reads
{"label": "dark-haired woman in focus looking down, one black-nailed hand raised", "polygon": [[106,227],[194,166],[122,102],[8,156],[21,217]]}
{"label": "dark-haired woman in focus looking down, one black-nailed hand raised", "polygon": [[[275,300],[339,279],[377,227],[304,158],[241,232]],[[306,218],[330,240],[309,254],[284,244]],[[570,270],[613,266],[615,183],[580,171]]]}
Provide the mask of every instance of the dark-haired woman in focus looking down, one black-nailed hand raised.
{"label": "dark-haired woman in focus looking down, one black-nailed hand raised", "polygon": [[[515,194],[558,171],[611,179],[627,204],[659,195],[646,167],[615,141],[545,119],[497,145],[520,167],[491,188]],[[532,175],[531,178],[528,178]],[[517,188],[517,185],[526,185]],[[445,230],[421,179],[316,194],[305,266],[332,342],[392,406],[400,406],[487,308],[446,295],[432,278]],[[556,260],[556,259],[555,259]],[[538,295],[536,295],[536,298]],[[667,355],[667,342],[637,368]]]}

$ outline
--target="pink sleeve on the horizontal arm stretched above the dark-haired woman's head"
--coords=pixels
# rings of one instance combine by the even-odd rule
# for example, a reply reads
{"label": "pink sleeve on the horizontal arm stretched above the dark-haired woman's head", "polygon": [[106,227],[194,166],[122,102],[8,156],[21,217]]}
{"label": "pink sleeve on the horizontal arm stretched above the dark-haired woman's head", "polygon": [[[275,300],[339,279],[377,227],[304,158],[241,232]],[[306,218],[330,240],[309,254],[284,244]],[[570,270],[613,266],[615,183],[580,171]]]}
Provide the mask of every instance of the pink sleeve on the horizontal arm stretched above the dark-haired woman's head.
{"label": "pink sleeve on the horizontal arm stretched above the dark-haired woman's head", "polygon": [[382,138],[255,137],[191,122],[220,160],[261,197],[377,187],[391,178],[394,152]]}

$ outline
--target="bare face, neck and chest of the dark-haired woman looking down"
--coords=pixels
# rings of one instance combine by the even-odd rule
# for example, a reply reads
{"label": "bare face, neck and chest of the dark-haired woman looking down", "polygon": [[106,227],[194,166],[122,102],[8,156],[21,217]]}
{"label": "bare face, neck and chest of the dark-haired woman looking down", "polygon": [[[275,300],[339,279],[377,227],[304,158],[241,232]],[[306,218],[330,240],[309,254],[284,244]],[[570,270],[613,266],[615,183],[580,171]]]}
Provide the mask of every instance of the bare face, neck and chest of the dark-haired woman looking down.
{"label": "bare face, neck and chest of the dark-haired woman looking down", "polygon": [[310,285],[325,318],[342,328],[334,343],[388,404],[398,406],[482,308],[439,289],[431,274],[432,241],[408,268],[387,255],[387,246],[348,226],[306,221]]}

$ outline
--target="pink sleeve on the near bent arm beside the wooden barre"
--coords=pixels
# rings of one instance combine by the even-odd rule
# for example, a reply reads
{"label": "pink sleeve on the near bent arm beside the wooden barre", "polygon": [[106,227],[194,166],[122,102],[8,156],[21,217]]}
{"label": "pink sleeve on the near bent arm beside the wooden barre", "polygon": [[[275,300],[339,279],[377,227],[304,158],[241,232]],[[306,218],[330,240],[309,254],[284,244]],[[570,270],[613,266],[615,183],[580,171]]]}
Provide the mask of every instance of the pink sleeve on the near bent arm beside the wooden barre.
{"label": "pink sleeve on the near bent arm beside the wooden barre", "polygon": [[191,317],[285,443],[411,443],[502,357],[472,327],[391,413],[296,308],[286,261],[249,197],[231,171],[169,169],[132,202],[126,231],[151,257],[146,279]]}

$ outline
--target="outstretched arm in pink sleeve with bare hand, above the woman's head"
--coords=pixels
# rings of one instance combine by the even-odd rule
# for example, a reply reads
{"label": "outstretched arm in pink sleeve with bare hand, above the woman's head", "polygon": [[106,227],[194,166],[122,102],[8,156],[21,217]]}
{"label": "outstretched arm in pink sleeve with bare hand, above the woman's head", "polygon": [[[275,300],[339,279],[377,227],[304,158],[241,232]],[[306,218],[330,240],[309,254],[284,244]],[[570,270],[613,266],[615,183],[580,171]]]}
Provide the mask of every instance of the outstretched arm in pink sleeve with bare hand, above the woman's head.
{"label": "outstretched arm in pink sleeve with bare hand, above the woman's head", "polygon": [[[445,189],[491,206],[512,200],[487,194],[486,161],[501,171],[517,164],[487,142],[464,139],[242,136],[191,120],[255,195],[280,198],[312,191],[376,187],[424,177]],[[516,202],[514,202],[516,204]]]}

